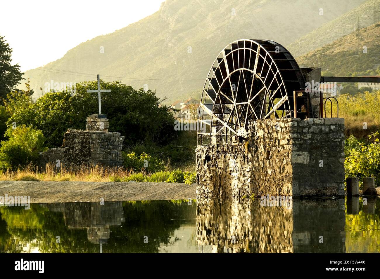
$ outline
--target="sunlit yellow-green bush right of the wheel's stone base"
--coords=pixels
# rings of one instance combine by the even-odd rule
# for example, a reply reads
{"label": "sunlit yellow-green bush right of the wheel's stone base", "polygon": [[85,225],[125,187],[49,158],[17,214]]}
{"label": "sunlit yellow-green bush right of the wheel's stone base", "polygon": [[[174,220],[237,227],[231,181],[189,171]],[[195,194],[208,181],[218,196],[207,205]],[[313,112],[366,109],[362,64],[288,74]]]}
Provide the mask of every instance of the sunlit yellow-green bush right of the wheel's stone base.
{"label": "sunlit yellow-green bush right of the wheel's stone base", "polygon": [[[344,162],[345,176],[358,177],[360,185],[363,177],[379,177],[380,175],[380,144],[379,139],[376,138],[378,132],[368,136],[369,139],[374,138],[374,143],[361,143],[355,142],[352,138],[347,146],[352,146],[348,150],[348,157]],[[360,147],[358,147],[358,145]],[[348,148],[348,147],[347,147]],[[376,184],[379,185],[378,179],[375,179]]]}

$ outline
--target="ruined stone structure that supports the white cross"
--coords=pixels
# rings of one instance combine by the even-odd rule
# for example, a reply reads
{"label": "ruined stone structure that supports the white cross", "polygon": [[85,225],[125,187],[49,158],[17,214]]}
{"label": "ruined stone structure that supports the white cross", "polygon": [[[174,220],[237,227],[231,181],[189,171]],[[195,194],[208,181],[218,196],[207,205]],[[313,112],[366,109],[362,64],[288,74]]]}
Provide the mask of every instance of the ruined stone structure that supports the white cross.
{"label": "ruined stone structure that supports the white cross", "polygon": [[[68,129],[63,136],[62,147],[51,148],[40,154],[40,167],[55,166],[60,160],[62,166],[122,166],[124,137],[117,132],[106,132],[108,119],[104,114],[87,117],[87,131]],[[104,128],[102,130],[102,128]]]}

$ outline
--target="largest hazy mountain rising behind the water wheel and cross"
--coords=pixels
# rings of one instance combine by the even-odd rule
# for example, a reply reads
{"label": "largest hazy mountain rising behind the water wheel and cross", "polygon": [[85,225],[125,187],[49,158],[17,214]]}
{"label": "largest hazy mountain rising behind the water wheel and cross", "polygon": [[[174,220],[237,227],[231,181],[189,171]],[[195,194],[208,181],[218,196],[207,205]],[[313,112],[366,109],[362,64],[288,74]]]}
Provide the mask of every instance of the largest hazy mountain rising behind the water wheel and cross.
{"label": "largest hazy mountain rising behind the water wheel and cross", "polygon": [[31,79],[35,97],[51,80],[80,82],[100,74],[105,81],[157,90],[172,102],[201,91],[212,62],[231,41],[272,39],[286,46],[363,2],[167,0],[151,16],[81,43],[24,77]]}

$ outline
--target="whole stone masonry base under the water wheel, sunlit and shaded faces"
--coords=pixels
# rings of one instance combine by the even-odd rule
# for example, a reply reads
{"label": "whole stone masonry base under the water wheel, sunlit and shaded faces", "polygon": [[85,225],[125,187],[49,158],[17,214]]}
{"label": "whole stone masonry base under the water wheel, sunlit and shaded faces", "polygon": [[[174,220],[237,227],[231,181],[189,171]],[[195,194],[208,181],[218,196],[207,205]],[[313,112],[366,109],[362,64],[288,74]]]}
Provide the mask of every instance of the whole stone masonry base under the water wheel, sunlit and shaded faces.
{"label": "whole stone masonry base under the water wheel, sunlit and shaded faces", "polygon": [[343,131],[343,118],[250,121],[247,144],[196,148],[197,196],[344,195]]}

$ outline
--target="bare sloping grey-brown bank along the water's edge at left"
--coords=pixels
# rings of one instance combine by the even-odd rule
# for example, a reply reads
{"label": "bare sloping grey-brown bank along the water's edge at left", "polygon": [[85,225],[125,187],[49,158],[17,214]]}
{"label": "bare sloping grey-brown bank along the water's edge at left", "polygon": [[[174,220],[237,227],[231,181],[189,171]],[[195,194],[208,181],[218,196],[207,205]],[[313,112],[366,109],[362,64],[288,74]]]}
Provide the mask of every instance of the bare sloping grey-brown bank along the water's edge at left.
{"label": "bare sloping grey-brown bank along the water's edge at left", "polygon": [[31,203],[196,199],[196,184],[166,182],[0,181],[0,196]]}

